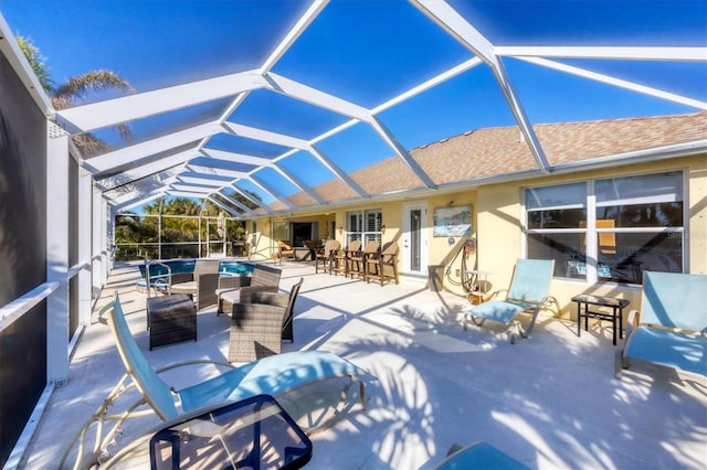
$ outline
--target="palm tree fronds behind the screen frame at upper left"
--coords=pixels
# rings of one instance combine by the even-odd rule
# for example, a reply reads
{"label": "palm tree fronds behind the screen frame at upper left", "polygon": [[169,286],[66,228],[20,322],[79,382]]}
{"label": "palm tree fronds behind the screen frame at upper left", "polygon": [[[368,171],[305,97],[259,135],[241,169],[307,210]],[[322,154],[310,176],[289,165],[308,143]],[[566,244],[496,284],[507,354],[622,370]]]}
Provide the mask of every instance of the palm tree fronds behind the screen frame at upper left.
{"label": "palm tree fronds behind the screen frame at upper left", "polygon": [[[66,83],[54,88],[46,58],[40,53],[30,38],[18,36],[18,44],[27,57],[44,90],[50,95],[54,109],[66,109],[81,104],[88,93],[107,89],[134,92],[133,86],[123,77],[110,71],[92,71],[71,77]],[[126,125],[117,126],[120,137],[130,140],[130,130]],[[73,136],[73,141],[84,157],[93,157],[108,150],[108,145],[91,132]]]}

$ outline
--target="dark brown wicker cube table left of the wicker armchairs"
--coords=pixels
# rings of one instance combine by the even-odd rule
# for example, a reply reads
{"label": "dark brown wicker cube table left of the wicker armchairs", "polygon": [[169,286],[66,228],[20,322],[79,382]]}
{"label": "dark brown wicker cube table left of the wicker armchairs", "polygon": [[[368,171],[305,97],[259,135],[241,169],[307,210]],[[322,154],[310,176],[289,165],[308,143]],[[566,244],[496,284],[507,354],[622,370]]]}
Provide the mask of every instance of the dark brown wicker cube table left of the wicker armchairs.
{"label": "dark brown wicker cube table left of the wicker armchairs", "polygon": [[186,293],[147,299],[147,328],[152,348],[197,341],[197,307]]}

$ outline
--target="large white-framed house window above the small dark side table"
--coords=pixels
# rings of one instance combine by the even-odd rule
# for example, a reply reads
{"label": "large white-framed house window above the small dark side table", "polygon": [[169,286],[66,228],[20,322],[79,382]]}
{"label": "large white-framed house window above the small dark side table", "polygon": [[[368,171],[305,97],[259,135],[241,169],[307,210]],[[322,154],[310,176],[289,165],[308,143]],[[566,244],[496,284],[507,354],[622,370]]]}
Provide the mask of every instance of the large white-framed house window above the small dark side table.
{"label": "large white-framed house window above the small dark side table", "polygon": [[528,258],[555,276],[641,284],[643,271],[682,273],[683,173],[592,180],[525,191]]}

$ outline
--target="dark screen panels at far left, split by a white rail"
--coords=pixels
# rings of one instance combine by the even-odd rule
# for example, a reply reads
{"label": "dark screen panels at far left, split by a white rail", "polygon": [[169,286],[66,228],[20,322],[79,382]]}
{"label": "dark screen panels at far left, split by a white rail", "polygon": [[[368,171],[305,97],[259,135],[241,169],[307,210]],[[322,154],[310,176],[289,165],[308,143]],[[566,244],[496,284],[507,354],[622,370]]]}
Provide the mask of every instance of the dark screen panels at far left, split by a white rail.
{"label": "dark screen panels at far left, split by a white rail", "polygon": [[[0,306],[46,279],[46,120],[0,55]],[[46,306],[0,333],[0,464],[46,385]]]}

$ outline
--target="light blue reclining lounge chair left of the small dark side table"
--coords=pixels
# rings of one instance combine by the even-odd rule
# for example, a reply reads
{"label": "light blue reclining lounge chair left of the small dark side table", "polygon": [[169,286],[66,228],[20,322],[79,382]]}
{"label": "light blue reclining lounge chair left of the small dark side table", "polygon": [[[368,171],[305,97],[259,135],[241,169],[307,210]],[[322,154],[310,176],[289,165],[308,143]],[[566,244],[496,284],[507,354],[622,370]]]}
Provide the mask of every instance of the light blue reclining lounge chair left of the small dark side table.
{"label": "light blue reclining lounge chair left of the small dark side table", "polygon": [[[472,308],[464,316],[464,329],[466,330],[469,321],[481,327],[484,321],[492,320],[509,327],[508,335],[511,344],[516,342],[517,335],[528,338],[532,332],[538,312],[552,300],[548,291],[553,270],[555,260],[552,259],[518,259],[510,287],[497,290],[492,295],[492,300]],[[495,298],[502,292],[506,292],[506,298],[496,300]],[[527,329],[516,320],[516,317],[525,311],[531,314]]]}

